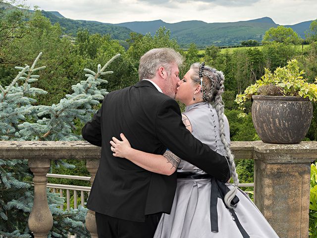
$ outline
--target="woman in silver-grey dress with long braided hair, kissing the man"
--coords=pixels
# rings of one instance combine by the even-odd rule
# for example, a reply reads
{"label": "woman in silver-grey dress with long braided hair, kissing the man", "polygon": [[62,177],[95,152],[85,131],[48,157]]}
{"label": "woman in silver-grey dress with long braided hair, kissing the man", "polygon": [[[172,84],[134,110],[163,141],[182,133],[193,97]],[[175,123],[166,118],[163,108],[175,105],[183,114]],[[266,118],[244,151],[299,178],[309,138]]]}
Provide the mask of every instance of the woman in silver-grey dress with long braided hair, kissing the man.
{"label": "woman in silver-grey dress with long braided hair, kissing the man", "polygon": [[114,156],[146,170],[171,175],[177,169],[171,213],[162,215],[154,238],[278,238],[252,200],[238,188],[229,123],[223,113],[223,82],[221,71],[194,63],[177,88],[176,99],[186,105],[182,119],[187,129],[226,156],[234,184],[212,178],[168,150],[164,155],[135,150],[123,134],[122,141],[113,137],[110,142]]}

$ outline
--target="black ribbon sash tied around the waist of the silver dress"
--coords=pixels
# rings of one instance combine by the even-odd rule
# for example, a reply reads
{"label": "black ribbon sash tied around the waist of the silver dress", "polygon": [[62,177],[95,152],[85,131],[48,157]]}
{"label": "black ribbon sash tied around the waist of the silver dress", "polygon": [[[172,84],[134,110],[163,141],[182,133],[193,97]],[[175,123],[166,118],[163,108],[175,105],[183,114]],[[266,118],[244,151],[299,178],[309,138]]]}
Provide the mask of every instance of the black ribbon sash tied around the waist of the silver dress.
{"label": "black ribbon sash tied around the waist of the silver dress", "polygon": [[[217,212],[217,201],[218,197],[221,198],[224,206],[229,210],[232,220],[235,221],[241,235],[243,238],[250,238],[248,233],[242,227],[234,209],[228,208],[224,202],[225,194],[230,190],[224,182],[213,178],[210,175],[200,175],[191,172],[178,172],[177,179],[211,179],[211,194],[210,194],[210,222],[211,222],[211,232],[218,232],[218,212]],[[235,206],[239,202],[239,198],[235,196],[231,205]]]}

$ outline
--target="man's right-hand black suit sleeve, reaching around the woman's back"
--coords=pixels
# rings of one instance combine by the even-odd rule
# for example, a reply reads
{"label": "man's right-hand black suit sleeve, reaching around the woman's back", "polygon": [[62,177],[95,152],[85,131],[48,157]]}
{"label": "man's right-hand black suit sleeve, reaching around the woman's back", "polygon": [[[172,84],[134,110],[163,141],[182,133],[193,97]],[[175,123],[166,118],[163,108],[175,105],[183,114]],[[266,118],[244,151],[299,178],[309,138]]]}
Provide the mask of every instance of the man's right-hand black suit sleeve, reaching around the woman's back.
{"label": "man's right-hand black suit sleeve, reaching around the woman's back", "polygon": [[227,160],[196,139],[186,129],[179,106],[173,99],[165,100],[156,117],[156,134],[159,140],[175,155],[204,170],[216,179],[230,177]]}

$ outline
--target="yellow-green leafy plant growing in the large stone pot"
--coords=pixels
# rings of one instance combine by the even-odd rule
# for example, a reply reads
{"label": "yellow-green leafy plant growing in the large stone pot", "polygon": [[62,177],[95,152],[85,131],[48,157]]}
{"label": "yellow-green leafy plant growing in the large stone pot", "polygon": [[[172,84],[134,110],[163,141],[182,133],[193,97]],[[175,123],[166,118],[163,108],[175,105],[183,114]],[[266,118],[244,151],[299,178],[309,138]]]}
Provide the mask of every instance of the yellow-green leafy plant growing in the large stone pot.
{"label": "yellow-green leafy plant growing in the large stone pot", "polygon": [[[261,79],[247,87],[243,94],[238,94],[235,102],[242,111],[245,110],[244,103],[253,95],[298,96],[316,102],[317,84],[307,82],[303,74],[305,72],[300,71],[297,60],[287,61],[286,66],[276,68],[273,73],[268,68],[264,68]],[[315,80],[317,82],[317,78]],[[238,117],[245,116],[245,113],[241,113]]]}

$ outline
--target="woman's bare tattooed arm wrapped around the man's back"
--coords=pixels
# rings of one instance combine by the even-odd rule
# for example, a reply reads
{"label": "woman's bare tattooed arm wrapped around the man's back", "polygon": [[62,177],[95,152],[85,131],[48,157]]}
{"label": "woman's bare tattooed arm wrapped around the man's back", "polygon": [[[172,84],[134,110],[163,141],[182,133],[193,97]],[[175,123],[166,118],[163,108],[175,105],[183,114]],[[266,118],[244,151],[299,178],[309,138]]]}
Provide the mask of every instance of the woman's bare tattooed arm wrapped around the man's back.
{"label": "woman's bare tattooed arm wrapped around the man's back", "polygon": [[[182,119],[186,128],[191,131],[192,128],[188,118],[183,115]],[[166,150],[163,155],[150,154],[140,150],[135,150],[131,148],[129,141],[122,133],[120,134],[120,137],[122,141],[115,137],[112,137],[112,141],[110,141],[111,150],[114,152],[113,156],[126,158],[145,170],[161,175],[172,175],[181,161],[180,158],[169,150]]]}

